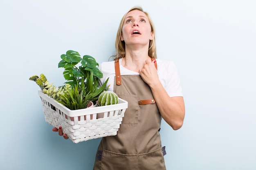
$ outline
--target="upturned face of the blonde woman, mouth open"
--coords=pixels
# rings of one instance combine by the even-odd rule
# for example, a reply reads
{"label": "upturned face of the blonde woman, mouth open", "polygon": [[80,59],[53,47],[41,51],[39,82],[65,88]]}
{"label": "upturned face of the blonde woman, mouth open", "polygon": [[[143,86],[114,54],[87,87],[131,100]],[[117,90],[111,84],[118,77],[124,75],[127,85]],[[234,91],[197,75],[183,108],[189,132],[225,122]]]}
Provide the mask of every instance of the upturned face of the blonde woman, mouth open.
{"label": "upturned face of the blonde woman, mouth open", "polygon": [[149,44],[153,40],[154,33],[146,14],[139,10],[130,11],[125,16],[122,28],[121,40],[126,45],[130,44]]}

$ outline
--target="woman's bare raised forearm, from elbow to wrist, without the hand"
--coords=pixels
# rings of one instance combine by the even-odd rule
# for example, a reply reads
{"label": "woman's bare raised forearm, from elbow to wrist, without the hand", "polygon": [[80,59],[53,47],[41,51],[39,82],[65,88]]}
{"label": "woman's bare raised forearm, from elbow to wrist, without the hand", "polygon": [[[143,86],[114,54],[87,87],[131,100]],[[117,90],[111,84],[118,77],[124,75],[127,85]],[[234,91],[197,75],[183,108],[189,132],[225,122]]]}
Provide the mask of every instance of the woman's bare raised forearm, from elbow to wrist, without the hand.
{"label": "woman's bare raised forearm, from elbow to wrist, without the hand", "polygon": [[181,128],[185,116],[183,97],[169,97],[160,81],[151,84],[150,88],[164,120],[174,130]]}

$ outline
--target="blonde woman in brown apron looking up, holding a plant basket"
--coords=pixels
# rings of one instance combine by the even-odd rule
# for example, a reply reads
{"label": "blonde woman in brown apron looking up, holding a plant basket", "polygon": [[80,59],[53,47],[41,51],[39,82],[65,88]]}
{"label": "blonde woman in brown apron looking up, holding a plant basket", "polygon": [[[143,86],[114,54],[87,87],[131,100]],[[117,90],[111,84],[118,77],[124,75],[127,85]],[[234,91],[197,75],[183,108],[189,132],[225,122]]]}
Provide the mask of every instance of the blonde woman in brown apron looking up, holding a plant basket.
{"label": "blonde woman in brown apron looking up, holding a plant basket", "polygon": [[185,116],[177,69],[157,59],[155,29],[140,7],[122,18],[115,47],[115,60],[100,66],[101,83],[109,77],[109,90],[128,101],[128,108],[117,135],[102,138],[94,170],[165,170],[161,120],[177,130]]}

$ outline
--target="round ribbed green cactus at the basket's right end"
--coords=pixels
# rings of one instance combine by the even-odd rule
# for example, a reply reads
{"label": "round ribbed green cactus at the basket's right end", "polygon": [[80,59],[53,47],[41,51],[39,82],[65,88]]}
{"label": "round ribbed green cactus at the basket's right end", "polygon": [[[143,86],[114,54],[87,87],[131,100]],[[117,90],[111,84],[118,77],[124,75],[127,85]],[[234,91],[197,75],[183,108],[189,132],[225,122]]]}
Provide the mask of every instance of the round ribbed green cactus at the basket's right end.
{"label": "round ribbed green cactus at the basket's right end", "polygon": [[116,93],[112,91],[103,91],[99,95],[98,99],[99,105],[100,106],[106,106],[110,104],[118,104],[118,96]]}

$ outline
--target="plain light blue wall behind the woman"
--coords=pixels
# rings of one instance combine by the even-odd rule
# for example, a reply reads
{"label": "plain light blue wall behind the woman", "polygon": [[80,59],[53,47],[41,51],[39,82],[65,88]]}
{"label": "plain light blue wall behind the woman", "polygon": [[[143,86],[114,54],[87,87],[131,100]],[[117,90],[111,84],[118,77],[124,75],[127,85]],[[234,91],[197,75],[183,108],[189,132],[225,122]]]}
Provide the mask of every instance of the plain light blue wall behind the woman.
{"label": "plain light blue wall behind the woman", "polygon": [[65,82],[67,50],[107,61],[121,17],[141,5],[157,54],[177,65],[186,104],[180,130],[162,122],[167,170],[256,169],[254,0],[1,0],[1,170],[90,170],[100,139],[72,143],[44,119],[31,75]]}

